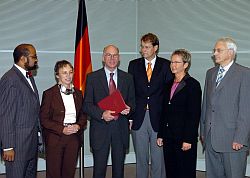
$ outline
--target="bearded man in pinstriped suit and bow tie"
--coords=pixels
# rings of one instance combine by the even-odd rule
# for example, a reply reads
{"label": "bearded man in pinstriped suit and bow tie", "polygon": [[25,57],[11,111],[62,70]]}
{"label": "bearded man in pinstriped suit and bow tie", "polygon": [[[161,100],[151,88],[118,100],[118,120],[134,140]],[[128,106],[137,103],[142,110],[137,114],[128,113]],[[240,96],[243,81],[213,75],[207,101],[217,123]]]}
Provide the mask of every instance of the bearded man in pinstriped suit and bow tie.
{"label": "bearded man in pinstriped suit and bow tie", "polygon": [[37,68],[31,44],[18,45],[14,65],[0,81],[0,136],[7,178],[35,178],[39,96],[30,71]]}

